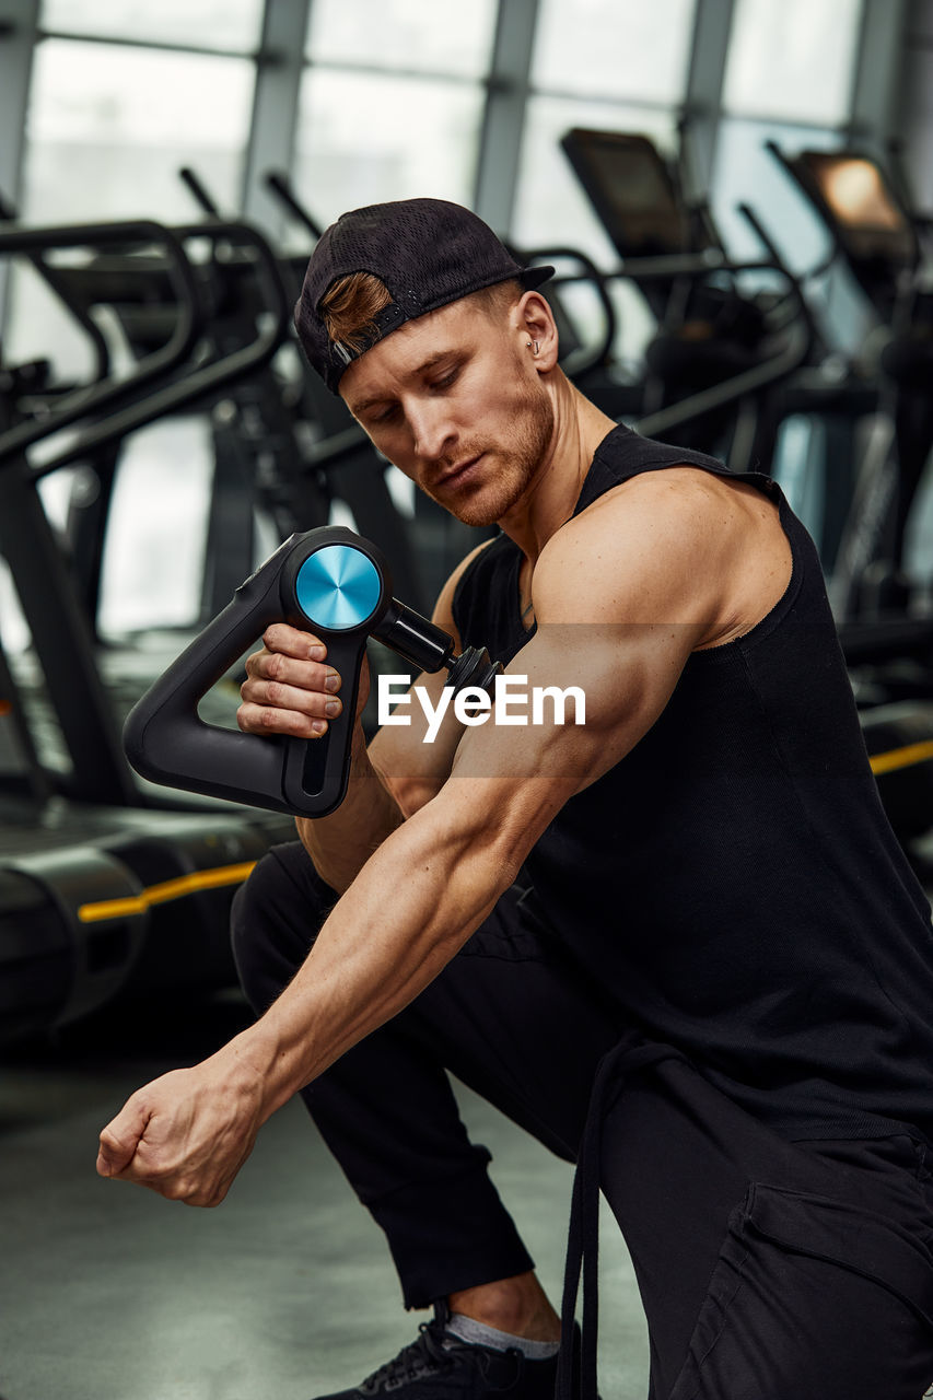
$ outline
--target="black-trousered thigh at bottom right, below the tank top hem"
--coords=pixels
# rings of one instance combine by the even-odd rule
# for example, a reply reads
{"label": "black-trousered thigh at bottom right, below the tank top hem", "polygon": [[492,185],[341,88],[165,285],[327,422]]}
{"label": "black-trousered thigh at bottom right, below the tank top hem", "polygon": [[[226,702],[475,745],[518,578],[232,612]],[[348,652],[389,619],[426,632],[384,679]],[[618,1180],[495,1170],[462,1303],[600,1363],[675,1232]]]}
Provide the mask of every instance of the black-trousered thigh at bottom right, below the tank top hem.
{"label": "black-trousered thigh at bottom right, below the tank top hem", "polygon": [[[651,1400],[919,1400],[933,1212],[916,1158],[785,1141],[679,1056],[616,1077],[602,1180],[649,1323]],[[905,1140],[908,1142],[908,1140]]]}

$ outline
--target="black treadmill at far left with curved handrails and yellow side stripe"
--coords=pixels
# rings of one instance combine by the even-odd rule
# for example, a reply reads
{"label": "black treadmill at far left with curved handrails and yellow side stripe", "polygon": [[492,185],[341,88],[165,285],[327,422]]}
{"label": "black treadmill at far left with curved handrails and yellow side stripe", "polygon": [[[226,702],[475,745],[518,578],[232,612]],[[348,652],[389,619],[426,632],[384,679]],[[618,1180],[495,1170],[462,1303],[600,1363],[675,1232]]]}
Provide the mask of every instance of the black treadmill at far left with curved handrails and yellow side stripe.
{"label": "black treadmill at far left with curved handrails and yellow side stripe", "polygon": [[[6,256],[154,246],[177,294],[168,340],[126,378],[63,393],[0,434],[0,554],[32,634],[28,655],[0,655],[3,1040],[53,1032],[116,997],[233,984],[233,895],[270,844],[294,834],[286,818],[132,774],[91,622],[38,493],[43,476],[209,400],[283,343],[290,298],[272,251],[245,225],[223,232],[252,246],[266,298],[252,342],[205,363],[188,231],[148,221],[0,231]],[[66,427],[71,440],[35,466],[29,449]]]}

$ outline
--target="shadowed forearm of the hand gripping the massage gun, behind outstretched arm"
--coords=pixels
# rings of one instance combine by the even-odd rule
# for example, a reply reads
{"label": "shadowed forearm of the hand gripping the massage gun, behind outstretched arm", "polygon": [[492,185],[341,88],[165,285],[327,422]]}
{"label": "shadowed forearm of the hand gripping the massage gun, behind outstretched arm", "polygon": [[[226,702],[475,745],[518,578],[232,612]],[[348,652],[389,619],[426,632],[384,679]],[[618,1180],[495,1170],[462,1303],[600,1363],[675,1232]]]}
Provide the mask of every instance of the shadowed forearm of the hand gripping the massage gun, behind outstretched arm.
{"label": "shadowed forearm of the hand gripping the massage gun, behind outstretched arm", "polygon": [[357,721],[346,798],[329,816],[298,818],[298,837],[321,878],[342,895],[401,822],[398,802],[373,766]]}

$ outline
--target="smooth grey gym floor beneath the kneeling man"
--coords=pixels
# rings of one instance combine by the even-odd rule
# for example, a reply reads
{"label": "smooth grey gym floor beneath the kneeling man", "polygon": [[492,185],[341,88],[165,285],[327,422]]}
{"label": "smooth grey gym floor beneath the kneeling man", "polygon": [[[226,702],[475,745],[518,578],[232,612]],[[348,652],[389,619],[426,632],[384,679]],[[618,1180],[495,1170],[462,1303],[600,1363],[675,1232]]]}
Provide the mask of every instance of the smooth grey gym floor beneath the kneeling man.
{"label": "smooth grey gym floor beneath the kneeling man", "polygon": [[[219,1210],[95,1175],[126,1096],[245,1015],[234,994],[125,1009],[0,1054],[0,1400],[311,1400],[416,1334],[427,1315],[403,1312],[380,1231],[297,1100]],[[570,1169],[466,1091],[462,1106],[559,1299]],[[611,1219],[601,1280],[601,1393],[643,1400],[647,1338]]]}

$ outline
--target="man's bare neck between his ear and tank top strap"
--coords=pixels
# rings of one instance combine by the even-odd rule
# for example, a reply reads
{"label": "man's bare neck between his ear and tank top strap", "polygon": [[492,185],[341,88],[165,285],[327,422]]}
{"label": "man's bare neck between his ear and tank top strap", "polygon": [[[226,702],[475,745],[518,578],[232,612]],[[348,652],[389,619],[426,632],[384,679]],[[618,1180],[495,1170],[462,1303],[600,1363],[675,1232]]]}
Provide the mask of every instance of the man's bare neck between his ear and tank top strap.
{"label": "man's bare neck between his ear and tank top strap", "polygon": [[552,375],[551,442],[527,490],[499,521],[532,566],[555,531],[573,515],[593,454],[616,426],[570,384],[562,370],[553,370]]}

